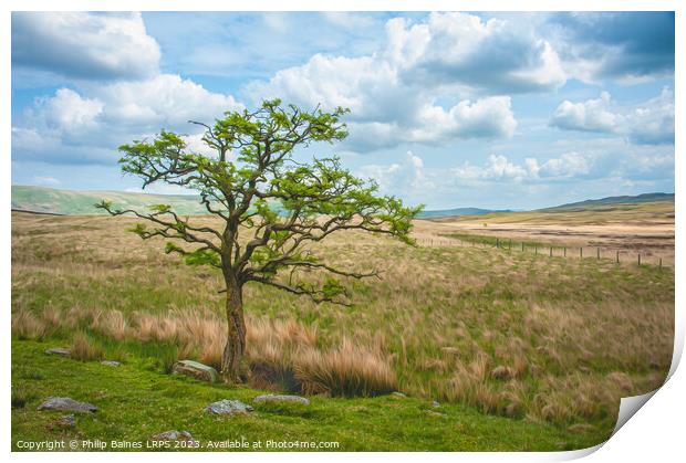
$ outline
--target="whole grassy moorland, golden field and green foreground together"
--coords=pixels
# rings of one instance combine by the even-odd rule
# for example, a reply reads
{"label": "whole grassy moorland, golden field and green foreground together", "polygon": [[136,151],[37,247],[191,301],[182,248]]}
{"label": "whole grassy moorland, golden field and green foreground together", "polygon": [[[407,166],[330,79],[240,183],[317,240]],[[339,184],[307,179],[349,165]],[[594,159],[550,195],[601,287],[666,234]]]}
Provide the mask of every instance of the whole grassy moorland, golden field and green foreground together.
{"label": "whole grassy moorland, golden field and green foreground together", "polygon": [[[621,397],[656,388],[669,368],[671,269],[353,233],[321,253],[383,270],[381,280],[351,282],[354,307],[248,286],[249,385],[184,380],[167,375],[177,358],[218,366],[219,275],[142,242],[126,232],[133,223],[12,215],[14,443],[66,432],[35,407],[71,394],[102,407],[69,431],[91,439],[184,428],[199,440],[304,434],[340,441],[339,450],[582,448],[607,438]],[[73,358],[42,354],[59,345],[72,345]],[[94,361],[105,358],[124,365]],[[264,389],[314,399],[222,427],[199,412]],[[433,400],[443,414],[427,411]]]}

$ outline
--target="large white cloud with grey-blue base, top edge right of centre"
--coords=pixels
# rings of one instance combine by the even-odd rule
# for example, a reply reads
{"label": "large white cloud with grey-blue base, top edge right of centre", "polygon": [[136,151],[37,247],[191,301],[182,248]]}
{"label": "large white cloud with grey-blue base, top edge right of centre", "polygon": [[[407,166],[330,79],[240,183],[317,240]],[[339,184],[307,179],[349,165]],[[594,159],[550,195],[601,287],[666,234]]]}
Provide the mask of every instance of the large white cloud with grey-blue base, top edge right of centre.
{"label": "large white cloud with grey-blue base, top edge right of centre", "polygon": [[549,91],[567,80],[551,44],[507,20],[434,12],[418,24],[388,21],[387,33],[389,55],[409,82],[501,94]]}

